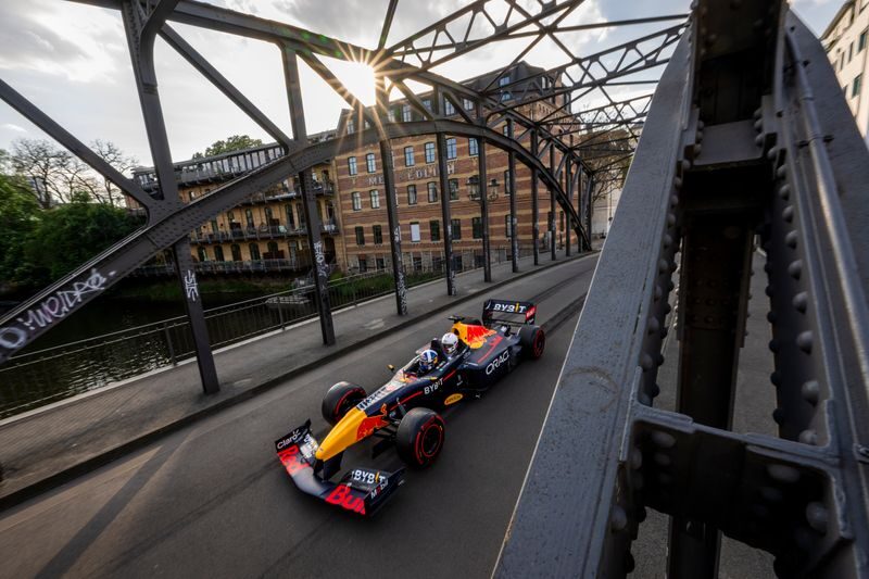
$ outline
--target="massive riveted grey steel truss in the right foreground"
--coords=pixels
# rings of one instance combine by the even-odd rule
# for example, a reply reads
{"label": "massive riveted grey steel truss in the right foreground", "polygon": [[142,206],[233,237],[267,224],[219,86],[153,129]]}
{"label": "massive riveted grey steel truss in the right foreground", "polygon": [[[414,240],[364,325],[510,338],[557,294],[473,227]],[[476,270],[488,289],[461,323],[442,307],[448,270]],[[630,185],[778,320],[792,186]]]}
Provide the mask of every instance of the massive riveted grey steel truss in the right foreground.
{"label": "massive riveted grey steel truss in the right foreground", "polygon": [[[869,577],[868,187],[824,50],[786,4],[695,2],[496,577],[625,577],[648,507],[670,516],[668,577],[716,577],[721,533],[780,577]],[[753,261],[774,372],[752,387],[774,388],[778,437],[732,429]],[[654,407],[668,330],[676,412]]]}

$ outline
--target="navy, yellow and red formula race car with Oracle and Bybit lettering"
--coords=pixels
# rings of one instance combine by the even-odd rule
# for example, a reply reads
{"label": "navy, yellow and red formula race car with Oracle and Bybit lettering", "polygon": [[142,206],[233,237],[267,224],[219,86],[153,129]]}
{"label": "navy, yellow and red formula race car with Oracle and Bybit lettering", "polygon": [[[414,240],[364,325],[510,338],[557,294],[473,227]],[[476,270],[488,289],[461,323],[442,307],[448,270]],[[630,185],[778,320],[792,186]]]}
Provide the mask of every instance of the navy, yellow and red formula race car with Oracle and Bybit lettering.
{"label": "navy, yellow and red formula race car with Oracle and Bybit lettering", "polygon": [[[275,441],[278,458],[303,492],[348,511],[374,514],[401,484],[404,469],[353,468],[336,483],[329,479],[340,470],[343,452],[373,437],[379,439],[373,456],[394,444],[406,464],[430,465],[444,441],[444,423],[437,411],[479,398],[519,361],[543,355],[546,338],[534,325],[536,313],[530,302],[488,300],[482,322],[450,316],[457,340],[444,338],[457,342],[452,353],[432,340],[371,394],[350,382],[336,383],[323,399],[323,417],[335,425],[328,436],[323,442],[315,440],[307,420]],[[431,367],[426,364],[429,358],[437,358]]]}

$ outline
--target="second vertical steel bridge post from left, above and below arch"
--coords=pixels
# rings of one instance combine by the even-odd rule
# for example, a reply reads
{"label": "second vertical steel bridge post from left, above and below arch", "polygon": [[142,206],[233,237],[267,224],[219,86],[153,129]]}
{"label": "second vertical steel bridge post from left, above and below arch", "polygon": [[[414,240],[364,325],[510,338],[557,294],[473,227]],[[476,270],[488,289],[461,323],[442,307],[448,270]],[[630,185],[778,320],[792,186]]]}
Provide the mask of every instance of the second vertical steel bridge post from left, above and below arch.
{"label": "second vertical steel bridge post from left, above and below arch", "polygon": [[[290,123],[292,138],[297,144],[307,144],[307,127],[305,126],[305,111],[302,104],[302,89],[299,84],[299,62],[295,51],[284,47],[284,80],[287,85],[287,101],[290,104]],[[319,315],[319,329],[323,343],[335,343],[335,326],[332,325],[332,310],[329,301],[329,264],[326,263],[326,253],[323,250],[323,235],[320,232],[319,213],[317,213],[317,199],[314,194],[314,179],[311,169],[299,174],[299,186],[302,188],[302,210],[307,224],[307,247],[311,251],[311,266],[314,273],[314,295]]]}

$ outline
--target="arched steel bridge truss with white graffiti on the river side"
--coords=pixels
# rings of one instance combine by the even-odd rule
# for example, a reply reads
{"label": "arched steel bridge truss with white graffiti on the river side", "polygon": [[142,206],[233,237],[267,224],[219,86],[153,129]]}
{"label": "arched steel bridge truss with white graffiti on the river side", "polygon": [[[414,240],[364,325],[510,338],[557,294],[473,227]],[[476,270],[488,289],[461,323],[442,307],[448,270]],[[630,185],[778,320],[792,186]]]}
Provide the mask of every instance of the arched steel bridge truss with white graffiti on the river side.
{"label": "arched steel bridge truss with white graffiti on the river side", "polygon": [[[406,313],[407,304],[392,155],[388,154],[391,150],[389,144],[391,139],[416,135],[437,136],[441,191],[449,190],[445,167],[446,135],[477,138],[478,142],[506,151],[511,187],[514,190],[515,163],[522,163],[531,171],[534,263],[537,264],[540,259],[538,188],[541,184],[550,191],[553,215],[557,204],[568,218],[567,247],[571,246],[569,229],[572,228],[580,249],[590,249],[589,231],[595,190],[620,180],[624,174],[624,161],[632,154],[638,140],[638,128],[647,112],[650,100],[648,97],[641,97],[617,101],[610,98],[607,86],[654,83],[647,76],[634,80],[637,77],[631,75],[644,73],[647,75],[650,71],[654,73],[656,67],[666,63],[669,51],[684,28],[684,23],[681,23],[597,54],[579,56],[563,41],[564,34],[604,26],[684,21],[684,15],[567,25],[566,18],[582,3],[582,0],[539,1],[532,8],[526,8],[526,3],[516,0],[479,0],[470,2],[407,39],[387,47],[386,42],[398,8],[398,0],[390,0],[378,47],[367,49],[295,26],[190,0],[74,1],[117,10],[122,16],[159,188],[149,194],[138,184],[118,174],[13,87],[0,79],[0,98],[139,202],[148,215],[147,223],[140,230],[83,264],[0,319],[0,363],[153,255],[168,248],[173,252],[178,279],[185,290],[197,361],[203,390],[206,393],[216,392],[219,389],[219,380],[209,345],[198,281],[190,256],[188,239],[190,230],[214,215],[231,209],[251,193],[279,182],[288,175],[298,175],[305,219],[311,224],[307,228],[307,242],[315,264],[315,294],[325,344],[335,342],[335,331],[327,292],[328,268],[325,264],[320,227],[317,223],[311,168],[317,163],[335,159],[360,146],[378,143],[380,147],[391,231],[389,237],[396,310],[400,315]],[[275,45],[282,56],[282,74],[286,79],[292,125],[290,134],[285,133],[277,123],[259,110],[173,29],[169,23],[182,23]],[[153,59],[158,37],[176,50],[193,68],[272,136],[284,148],[285,155],[216,188],[196,201],[188,204],[181,202],[158,89]],[[519,38],[528,39],[528,45],[504,68],[505,71],[519,62],[544,38],[555,42],[566,59],[566,64],[563,66],[544,73],[543,76],[552,80],[551,86],[543,87],[538,81],[538,85],[530,87],[531,92],[522,88],[520,93],[516,95],[517,99],[525,99],[525,103],[533,103],[540,100],[539,93],[545,92],[546,98],[553,103],[558,103],[553,113],[543,118],[526,114],[521,105],[514,104],[515,100],[502,102],[501,92],[491,86],[483,89],[474,88],[431,71],[438,64],[474,50],[484,50],[493,42]],[[430,43],[427,45],[429,40]],[[323,56],[370,65],[376,76],[377,104],[371,108],[364,106],[330,71]],[[315,144],[308,143],[299,80],[299,60],[310,66],[347,101],[353,111],[352,114],[355,115],[356,126],[364,127],[364,130],[354,134],[352,138],[343,136]],[[408,81],[430,87],[431,93],[436,97],[432,99],[433,105],[426,106],[417,93],[411,90]],[[394,89],[402,93],[423,121],[408,123],[389,121],[387,114],[389,95]],[[538,92],[534,93],[533,90]],[[581,113],[571,113],[580,99],[591,95],[595,95],[599,101],[602,99],[604,104]],[[474,103],[471,111],[467,111],[464,106],[468,100]],[[446,103],[452,104],[461,121],[448,117],[444,111]],[[506,130],[503,133],[494,130],[501,123],[506,123]],[[589,139],[593,142],[588,142]],[[590,162],[584,159],[587,153],[583,148],[589,149]],[[479,178],[481,182],[487,182],[486,147],[480,147],[479,150]],[[562,158],[557,165],[556,152]],[[596,185],[597,179],[601,180],[600,186]],[[444,201],[445,199],[446,196],[441,194],[442,218],[444,224],[450,224],[450,204]],[[514,196],[511,196],[511,215],[515,230],[517,218]],[[481,217],[484,279],[490,281],[487,196],[481,196]],[[554,219],[549,227],[554,227]],[[450,259],[452,232],[449,225],[444,229],[442,237],[444,263],[448,269],[446,290],[450,294],[455,294],[457,290]],[[517,236],[513,236],[514,272],[518,270],[517,243]],[[552,259],[555,259],[554,243],[552,246]]]}

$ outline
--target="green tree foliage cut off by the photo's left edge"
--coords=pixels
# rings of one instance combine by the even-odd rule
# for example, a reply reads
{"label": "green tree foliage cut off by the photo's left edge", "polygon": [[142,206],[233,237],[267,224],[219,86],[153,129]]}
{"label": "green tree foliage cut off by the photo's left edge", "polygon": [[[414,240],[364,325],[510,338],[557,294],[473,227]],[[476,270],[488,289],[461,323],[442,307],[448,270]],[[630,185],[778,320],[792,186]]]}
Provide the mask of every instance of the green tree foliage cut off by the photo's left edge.
{"label": "green tree foliage cut off by the photo's left edge", "polygon": [[14,289],[26,278],[24,250],[39,225],[39,203],[27,185],[17,177],[0,174],[0,288]]}

